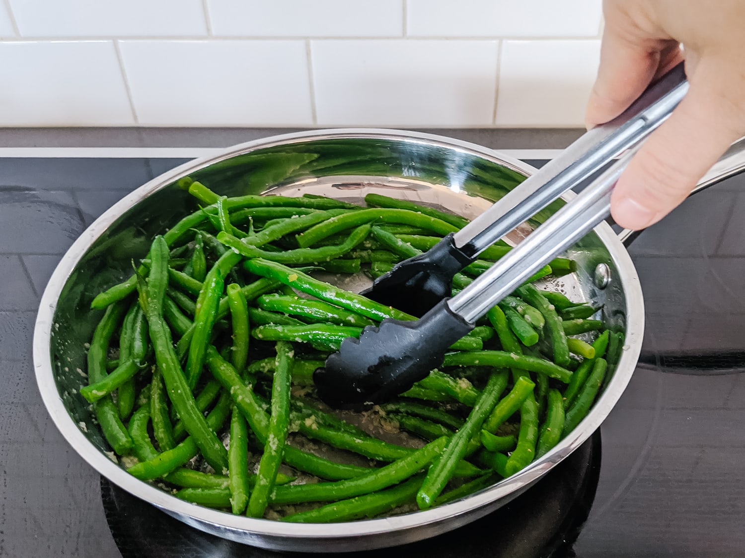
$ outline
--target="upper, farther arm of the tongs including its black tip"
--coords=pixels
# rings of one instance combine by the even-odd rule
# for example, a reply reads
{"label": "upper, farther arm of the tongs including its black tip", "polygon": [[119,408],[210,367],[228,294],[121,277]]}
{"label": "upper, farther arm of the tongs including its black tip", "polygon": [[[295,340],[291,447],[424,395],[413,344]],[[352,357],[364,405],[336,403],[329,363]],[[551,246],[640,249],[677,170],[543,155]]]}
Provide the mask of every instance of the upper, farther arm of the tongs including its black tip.
{"label": "upper, farther arm of the tongs including its black tip", "polygon": [[460,231],[397,264],[361,294],[422,316],[450,295],[453,276],[517,225],[647,137],[688,89],[682,63],[641,94],[618,118],[591,129],[561,155]]}

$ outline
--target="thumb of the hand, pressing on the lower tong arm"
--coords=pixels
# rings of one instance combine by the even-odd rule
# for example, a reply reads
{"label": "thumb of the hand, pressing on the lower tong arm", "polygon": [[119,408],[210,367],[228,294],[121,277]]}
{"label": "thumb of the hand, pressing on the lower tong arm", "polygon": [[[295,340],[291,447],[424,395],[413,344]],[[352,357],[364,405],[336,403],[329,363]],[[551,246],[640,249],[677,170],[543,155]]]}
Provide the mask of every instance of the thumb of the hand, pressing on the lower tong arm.
{"label": "thumb of the hand, pressing on the lower tong arm", "polygon": [[743,135],[745,111],[738,99],[745,83],[723,83],[723,75],[703,60],[697,64],[688,94],[615,186],[611,213],[618,225],[638,230],[665,217]]}

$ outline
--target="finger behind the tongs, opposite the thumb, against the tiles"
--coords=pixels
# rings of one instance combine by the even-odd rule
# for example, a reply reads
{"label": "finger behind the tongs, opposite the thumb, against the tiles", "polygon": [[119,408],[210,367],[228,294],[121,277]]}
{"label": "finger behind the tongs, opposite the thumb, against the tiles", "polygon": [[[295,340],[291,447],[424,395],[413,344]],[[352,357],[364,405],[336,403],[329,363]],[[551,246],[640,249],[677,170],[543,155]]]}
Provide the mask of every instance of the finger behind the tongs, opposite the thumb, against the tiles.
{"label": "finger behind the tongs, opposite the thumb, against the tiles", "polygon": [[585,115],[588,127],[620,115],[646,89],[659,67],[663,48],[669,48],[668,42],[606,28]]}

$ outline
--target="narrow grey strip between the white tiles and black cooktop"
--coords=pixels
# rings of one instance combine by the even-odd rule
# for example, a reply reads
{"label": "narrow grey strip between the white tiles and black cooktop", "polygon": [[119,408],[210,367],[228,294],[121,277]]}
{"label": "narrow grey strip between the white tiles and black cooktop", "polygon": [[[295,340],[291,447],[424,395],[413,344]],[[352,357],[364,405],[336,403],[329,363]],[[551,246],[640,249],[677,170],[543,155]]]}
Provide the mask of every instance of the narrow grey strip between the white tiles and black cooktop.
{"label": "narrow grey strip between the white tiles and black cooktop", "polygon": [[[329,126],[331,127],[331,126]],[[360,126],[373,127],[373,126]],[[404,128],[400,128],[404,129]],[[492,149],[563,149],[576,128],[413,129]],[[0,128],[0,147],[229,147],[298,128]]]}

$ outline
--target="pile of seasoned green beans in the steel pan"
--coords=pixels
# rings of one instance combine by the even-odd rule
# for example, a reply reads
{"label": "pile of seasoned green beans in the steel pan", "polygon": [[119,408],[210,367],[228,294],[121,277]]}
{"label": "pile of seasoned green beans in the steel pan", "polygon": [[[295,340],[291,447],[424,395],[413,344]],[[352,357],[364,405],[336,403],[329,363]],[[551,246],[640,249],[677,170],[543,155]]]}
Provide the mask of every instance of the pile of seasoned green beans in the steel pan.
{"label": "pile of seasoned green beans in the steel pan", "polygon": [[[623,333],[605,329],[601,307],[533,285],[575,269],[557,258],[453,344],[440,369],[348,420],[315,397],[313,372],[364,327],[416,318],[323,278],[381,275],[466,219],[378,194],[362,208],[226,198],[182,182],[194,213],[92,301],[104,312],[79,390],[127,470],[178,498],[287,522],[465,498],[551,452],[621,357]],[[453,288],[509,250],[489,248]],[[300,475],[317,482],[292,484]]]}

